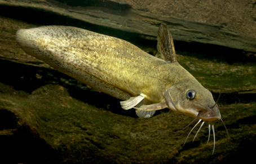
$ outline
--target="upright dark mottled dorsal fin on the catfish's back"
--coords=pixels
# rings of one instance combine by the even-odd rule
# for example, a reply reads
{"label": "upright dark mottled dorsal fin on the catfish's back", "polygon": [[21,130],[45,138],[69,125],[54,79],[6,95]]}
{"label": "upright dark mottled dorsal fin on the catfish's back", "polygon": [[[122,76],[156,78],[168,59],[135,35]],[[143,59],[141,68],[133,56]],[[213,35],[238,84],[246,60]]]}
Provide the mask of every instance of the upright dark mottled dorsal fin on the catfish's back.
{"label": "upright dark mottled dorsal fin on the catfish's back", "polygon": [[171,33],[165,24],[161,24],[158,28],[157,50],[164,56],[165,61],[177,62],[173,37],[171,37]]}

